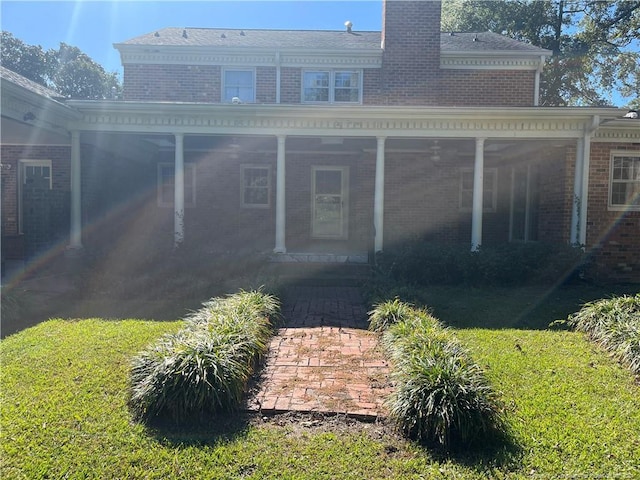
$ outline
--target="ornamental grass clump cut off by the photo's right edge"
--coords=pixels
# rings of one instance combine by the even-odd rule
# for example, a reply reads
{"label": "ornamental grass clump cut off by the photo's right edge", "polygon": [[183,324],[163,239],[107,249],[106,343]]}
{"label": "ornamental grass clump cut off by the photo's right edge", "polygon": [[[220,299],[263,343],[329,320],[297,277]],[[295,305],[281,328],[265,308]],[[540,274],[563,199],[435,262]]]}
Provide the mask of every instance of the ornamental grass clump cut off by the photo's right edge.
{"label": "ornamental grass clump cut off by the photo's right edge", "polygon": [[640,375],[640,293],[586,303],[568,323]]}

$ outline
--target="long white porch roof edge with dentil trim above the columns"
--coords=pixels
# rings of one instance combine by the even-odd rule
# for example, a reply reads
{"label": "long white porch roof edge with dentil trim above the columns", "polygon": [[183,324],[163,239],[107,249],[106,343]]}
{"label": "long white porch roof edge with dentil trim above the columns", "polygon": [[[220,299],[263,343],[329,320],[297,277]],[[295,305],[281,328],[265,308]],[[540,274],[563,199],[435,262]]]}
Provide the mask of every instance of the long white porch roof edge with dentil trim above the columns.
{"label": "long white porch roof edge with dentil trim above the columns", "polygon": [[[640,141],[626,110],[590,107],[466,108],[204,104],[70,100],[72,130],[192,135],[436,138],[580,138]],[[633,125],[631,125],[633,123]],[[602,125],[602,127],[601,127]],[[634,128],[635,127],[635,128]]]}

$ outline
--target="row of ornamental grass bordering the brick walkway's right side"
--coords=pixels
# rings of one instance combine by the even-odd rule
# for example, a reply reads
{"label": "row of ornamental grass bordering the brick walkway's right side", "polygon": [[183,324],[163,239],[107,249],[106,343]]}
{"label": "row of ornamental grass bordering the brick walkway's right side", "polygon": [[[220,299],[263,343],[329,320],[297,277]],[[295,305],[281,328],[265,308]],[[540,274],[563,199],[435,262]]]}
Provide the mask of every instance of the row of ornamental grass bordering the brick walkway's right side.
{"label": "row of ornamental grass bordering the brick walkway's right side", "polygon": [[386,322],[382,345],[394,383],[387,405],[402,433],[447,451],[503,434],[501,405],[480,366],[428,312],[395,306],[403,318]]}

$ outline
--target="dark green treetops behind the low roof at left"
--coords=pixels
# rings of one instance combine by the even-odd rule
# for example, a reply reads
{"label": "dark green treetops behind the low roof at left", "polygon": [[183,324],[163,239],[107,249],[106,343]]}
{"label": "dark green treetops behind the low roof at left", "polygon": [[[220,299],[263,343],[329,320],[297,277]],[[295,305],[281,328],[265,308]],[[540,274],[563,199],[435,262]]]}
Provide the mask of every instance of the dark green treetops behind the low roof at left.
{"label": "dark green treetops behind the low roof at left", "polygon": [[112,98],[121,91],[115,72],[108,73],[79,48],[66,43],[45,51],[39,45],[28,45],[3,31],[1,51],[4,67],[64,97]]}

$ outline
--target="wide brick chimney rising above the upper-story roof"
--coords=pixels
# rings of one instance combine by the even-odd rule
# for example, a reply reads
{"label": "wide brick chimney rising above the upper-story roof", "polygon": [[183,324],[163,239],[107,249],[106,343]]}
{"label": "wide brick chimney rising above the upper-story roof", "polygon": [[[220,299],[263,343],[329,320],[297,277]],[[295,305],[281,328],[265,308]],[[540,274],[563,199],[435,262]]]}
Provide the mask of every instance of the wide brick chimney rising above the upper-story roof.
{"label": "wide brick chimney rising above the upper-story roof", "polygon": [[440,79],[435,0],[383,0],[382,96],[389,105],[435,105]]}

